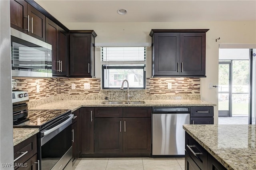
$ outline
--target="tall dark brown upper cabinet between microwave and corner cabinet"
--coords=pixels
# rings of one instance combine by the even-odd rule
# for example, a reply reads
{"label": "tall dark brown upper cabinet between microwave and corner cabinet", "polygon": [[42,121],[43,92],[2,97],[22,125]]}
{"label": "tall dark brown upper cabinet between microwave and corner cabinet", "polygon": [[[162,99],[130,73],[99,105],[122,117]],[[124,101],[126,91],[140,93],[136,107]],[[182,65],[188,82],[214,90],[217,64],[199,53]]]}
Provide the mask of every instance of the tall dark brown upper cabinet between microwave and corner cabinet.
{"label": "tall dark brown upper cabinet between microwave and corner cabinet", "polygon": [[46,18],[46,42],[52,45],[52,75],[68,75],[67,33],[48,18]]}

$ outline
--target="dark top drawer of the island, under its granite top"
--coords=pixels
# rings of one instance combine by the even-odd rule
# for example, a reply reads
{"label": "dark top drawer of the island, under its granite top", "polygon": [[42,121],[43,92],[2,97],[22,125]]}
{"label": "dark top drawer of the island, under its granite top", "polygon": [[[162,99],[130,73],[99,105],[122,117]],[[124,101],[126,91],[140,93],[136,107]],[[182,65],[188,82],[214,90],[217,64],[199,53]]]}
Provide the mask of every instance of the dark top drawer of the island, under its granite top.
{"label": "dark top drawer of the island, under its granite top", "polygon": [[[185,135],[185,150],[188,152],[189,156],[196,162],[200,169],[207,169],[207,151],[194,140],[187,132]],[[194,155],[194,153],[200,153]]]}

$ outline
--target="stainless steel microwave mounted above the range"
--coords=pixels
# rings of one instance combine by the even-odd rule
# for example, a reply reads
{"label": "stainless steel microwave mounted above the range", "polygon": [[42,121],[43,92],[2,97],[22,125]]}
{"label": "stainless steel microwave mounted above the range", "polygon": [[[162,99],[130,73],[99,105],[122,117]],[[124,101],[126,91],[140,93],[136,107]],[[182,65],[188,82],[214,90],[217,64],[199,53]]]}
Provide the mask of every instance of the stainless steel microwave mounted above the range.
{"label": "stainless steel microwave mounted above the range", "polygon": [[52,45],[11,28],[13,77],[52,77]]}

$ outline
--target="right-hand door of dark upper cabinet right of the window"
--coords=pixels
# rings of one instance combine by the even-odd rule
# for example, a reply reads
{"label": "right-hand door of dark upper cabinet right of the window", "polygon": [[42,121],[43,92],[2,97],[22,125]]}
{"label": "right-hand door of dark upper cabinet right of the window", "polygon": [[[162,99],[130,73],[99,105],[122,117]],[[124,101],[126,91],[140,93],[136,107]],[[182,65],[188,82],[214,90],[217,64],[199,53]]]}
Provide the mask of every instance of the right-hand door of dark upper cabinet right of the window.
{"label": "right-hand door of dark upper cabinet right of the window", "polygon": [[205,75],[205,33],[180,33],[180,75]]}

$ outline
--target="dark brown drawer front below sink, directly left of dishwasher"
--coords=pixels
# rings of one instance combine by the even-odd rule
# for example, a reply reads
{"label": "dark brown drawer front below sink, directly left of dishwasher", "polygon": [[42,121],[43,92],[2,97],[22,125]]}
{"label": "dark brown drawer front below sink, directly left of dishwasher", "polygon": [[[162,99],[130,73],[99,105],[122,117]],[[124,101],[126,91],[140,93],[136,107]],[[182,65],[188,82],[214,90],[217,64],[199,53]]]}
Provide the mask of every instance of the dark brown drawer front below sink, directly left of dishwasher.
{"label": "dark brown drawer front below sink, directly left of dishwasher", "polygon": [[123,117],[151,117],[151,107],[124,107]]}

